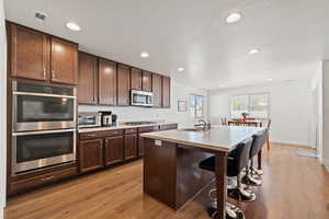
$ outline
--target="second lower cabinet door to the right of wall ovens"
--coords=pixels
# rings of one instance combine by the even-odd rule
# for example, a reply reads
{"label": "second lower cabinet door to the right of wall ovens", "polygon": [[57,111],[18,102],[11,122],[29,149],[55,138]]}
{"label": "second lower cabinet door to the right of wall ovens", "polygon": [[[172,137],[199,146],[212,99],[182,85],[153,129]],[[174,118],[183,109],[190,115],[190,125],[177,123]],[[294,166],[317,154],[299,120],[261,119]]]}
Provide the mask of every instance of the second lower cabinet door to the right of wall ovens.
{"label": "second lower cabinet door to the right of wall ovens", "polygon": [[105,165],[124,160],[123,136],[105,138]]}

